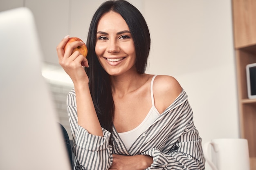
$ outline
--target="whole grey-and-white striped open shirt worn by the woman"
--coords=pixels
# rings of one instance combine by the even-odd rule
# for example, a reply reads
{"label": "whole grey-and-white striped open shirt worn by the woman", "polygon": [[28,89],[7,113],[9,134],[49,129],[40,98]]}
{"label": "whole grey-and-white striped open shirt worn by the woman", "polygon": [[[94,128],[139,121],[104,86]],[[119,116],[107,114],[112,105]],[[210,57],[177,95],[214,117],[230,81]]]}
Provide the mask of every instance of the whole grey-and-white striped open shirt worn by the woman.
{"label": "whole grey-and-white striped open shirt worn by the woman", "polygon": [[[129,149],[113,127],[103,137],[92,135],[77,124],[74,89],[67,97],[67,110],[74,140],[75,170],[108,170],[112,154],[149,155],[153,163],[146,170],[204,170],[202,139],[193,123],[193,111],[184,90],[142,133]],[[112,137],[113,144],[109,144]]]}

